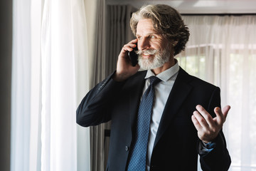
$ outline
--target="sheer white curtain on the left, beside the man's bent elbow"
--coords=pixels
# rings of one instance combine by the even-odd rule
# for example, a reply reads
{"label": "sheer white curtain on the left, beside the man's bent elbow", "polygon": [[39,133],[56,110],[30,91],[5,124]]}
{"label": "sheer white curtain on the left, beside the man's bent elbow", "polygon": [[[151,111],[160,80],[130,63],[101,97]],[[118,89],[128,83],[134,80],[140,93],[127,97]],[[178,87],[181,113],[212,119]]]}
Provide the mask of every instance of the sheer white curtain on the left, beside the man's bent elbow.
{"label": "sheer white curtain on the left, beside the man's bent elbow", "polygon": [[[14,0],[11,170],[90,170],[84,1]],[[79,150],[77,150],[79,147]]]}

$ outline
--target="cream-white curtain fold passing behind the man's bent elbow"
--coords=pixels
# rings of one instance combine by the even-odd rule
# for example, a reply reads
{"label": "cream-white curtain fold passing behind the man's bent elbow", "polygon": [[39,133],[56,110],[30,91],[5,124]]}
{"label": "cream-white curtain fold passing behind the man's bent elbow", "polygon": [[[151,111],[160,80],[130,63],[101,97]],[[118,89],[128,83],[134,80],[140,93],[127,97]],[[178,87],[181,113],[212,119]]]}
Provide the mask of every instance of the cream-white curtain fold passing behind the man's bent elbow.
{"label": "cream-white curtain fold passing behind the man's bent elbow", "polygon": [[[76,106],[90,90],[89,64],[87,44],[87,21],[85,17],[85,1],[75,0],[71,5],[73,25],[73,47],[75,56]],[[90,171],[90,128],[77,125],[77,170]]]}

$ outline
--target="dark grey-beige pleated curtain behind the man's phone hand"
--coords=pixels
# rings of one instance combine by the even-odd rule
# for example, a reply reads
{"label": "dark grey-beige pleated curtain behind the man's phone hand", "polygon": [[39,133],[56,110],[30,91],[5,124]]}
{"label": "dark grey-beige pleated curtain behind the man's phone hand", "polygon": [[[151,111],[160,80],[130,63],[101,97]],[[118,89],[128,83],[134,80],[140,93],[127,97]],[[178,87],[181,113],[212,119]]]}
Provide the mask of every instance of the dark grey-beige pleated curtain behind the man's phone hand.
{"label": "dark grey-beige pleated curtain behind the man's phone hand", "polygon": [[[116,69],[119,51],[132,40],[129,19],[133,11],[129,5],[105,6],[104,0],[98,4],[94,86]],[[110,126],[111,122],[90,128],[92,171],[106,169]]]}

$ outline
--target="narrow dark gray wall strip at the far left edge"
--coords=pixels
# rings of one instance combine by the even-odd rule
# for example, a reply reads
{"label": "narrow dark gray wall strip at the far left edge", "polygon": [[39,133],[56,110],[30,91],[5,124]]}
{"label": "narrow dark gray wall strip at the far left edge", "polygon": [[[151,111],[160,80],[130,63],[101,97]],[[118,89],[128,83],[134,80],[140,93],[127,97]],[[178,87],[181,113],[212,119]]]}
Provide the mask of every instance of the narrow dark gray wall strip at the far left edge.
{"label": "narrow dark gray wall strip at the far left edge", "polygon": [[10,170],[12,0],[0,1],[0,170]]}

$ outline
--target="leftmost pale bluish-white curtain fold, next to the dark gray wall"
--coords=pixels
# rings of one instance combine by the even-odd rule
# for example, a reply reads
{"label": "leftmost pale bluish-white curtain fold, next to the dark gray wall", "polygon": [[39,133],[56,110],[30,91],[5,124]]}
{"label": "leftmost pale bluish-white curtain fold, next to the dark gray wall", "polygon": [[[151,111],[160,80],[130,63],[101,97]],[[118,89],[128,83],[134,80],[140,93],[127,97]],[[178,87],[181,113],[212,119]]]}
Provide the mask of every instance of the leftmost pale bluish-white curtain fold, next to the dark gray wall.
{"label": "leftmost pale bluish-white curtain fold, next to the dark gray wall", "polygon": [[[14,0],[11,71],[11,170],[29,169],[31,115],[31,1]],[[26,45],[26,46],[22,46]],[[23,102],[23,103],[20,103]]]}

